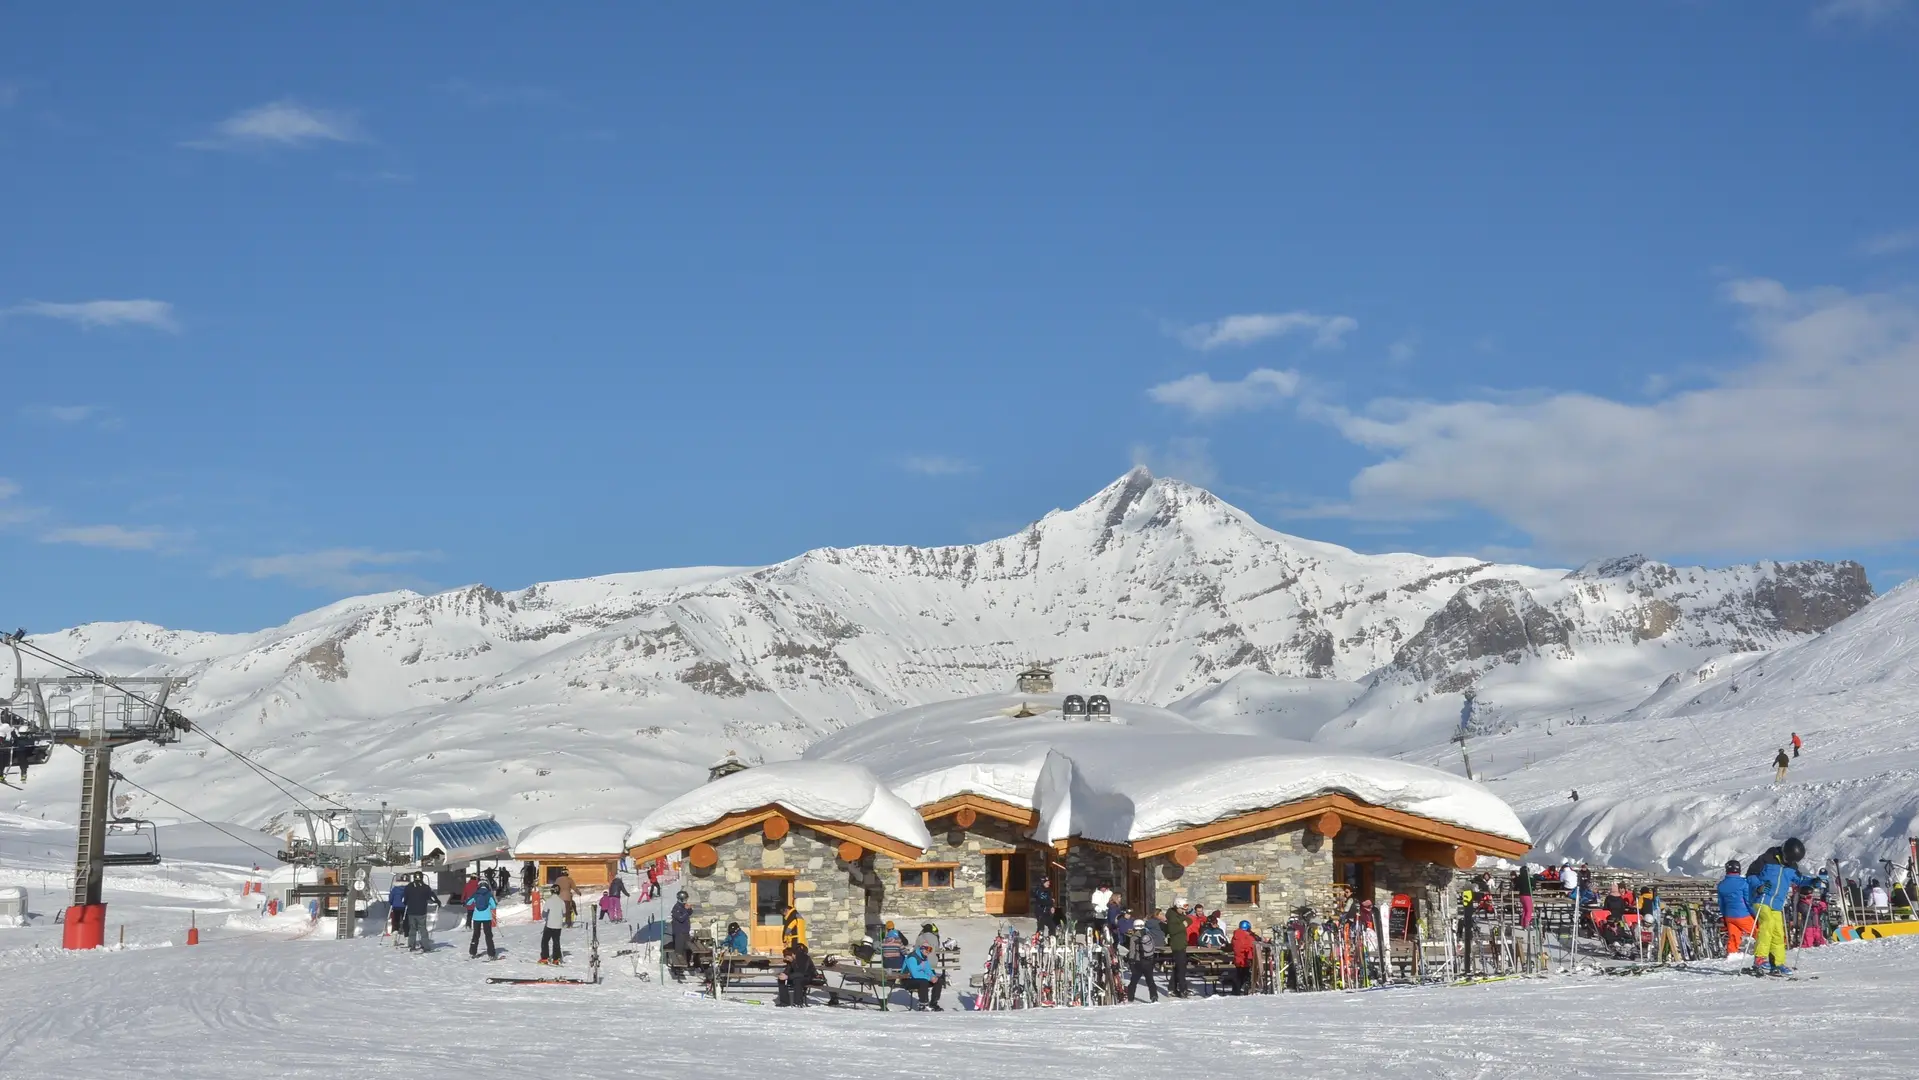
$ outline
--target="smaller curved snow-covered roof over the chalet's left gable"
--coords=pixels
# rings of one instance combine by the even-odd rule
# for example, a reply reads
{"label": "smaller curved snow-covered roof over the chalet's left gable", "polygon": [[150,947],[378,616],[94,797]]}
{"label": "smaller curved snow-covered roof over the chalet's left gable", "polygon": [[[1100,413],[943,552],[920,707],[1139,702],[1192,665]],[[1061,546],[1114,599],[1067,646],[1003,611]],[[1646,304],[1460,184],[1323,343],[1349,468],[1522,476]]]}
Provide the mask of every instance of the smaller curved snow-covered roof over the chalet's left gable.
{"label": "smaller curved snow-covered roof over the chalet's left gable", "polygon": [[697,787],[633,827],[631,846],[712,825],[729,813],[779,806],[814,821],[858,825],[912,848],[933,844],[927,823],[862,765],[777,762]]}

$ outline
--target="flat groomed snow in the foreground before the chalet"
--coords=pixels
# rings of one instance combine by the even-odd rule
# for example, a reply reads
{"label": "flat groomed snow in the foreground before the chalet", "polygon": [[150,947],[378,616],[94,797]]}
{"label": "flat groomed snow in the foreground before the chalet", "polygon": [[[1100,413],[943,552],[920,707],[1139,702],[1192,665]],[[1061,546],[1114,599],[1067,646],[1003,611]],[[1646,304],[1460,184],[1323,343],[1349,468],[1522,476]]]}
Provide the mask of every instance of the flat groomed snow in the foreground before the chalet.
{"label": "flat groomed snow in the foreground before the chalet", "polygon": [[[4,1076],[1858,1080],[1909,1076],[1919,1051],[1911,938],[1800,953],[1819,976],[1802,982],[1671,971],[1032,1013],[798,1013],[691,998],[635,978],[624,957],[608,957],[601,986],[487,986],[547,971],[528,963],[537,928],[520,904],[503,909],[505,959],[466,959],[451,913],[422,957],[382,938],[334,942],[330,923],[301,915],[253,915],[238,896],[246,865],[196,861],[109,871],[109,930],[125,925],[129,948],[69,953],[50,915],[63,904],[61,833],[0,819],[0,884],[29,884],[46,913],[0,928]],[[178,944],[188,911],[203,932],[192,948]]]}

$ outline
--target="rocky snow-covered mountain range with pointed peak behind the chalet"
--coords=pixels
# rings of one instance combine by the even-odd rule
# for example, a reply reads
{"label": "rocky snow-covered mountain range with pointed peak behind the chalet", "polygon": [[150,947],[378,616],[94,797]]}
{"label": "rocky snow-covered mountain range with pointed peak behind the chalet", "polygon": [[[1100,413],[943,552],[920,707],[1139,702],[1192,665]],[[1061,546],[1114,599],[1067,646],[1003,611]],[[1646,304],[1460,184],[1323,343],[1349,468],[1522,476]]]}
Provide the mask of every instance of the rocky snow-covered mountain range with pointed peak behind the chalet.
{"label": "rocky snow-covered mountain range with pointed peak behind the chalet", "polygon": [[[1359,554],[1134,470],[983,545],[384,593],[246,635],[88,623],[36,641],[186,677],[182,712],[319,790],[487,806],[518,827],[639,817],[725,752],[796,756],[879,712],[1002,691],[1031,662],[1061,687],[1186,698],[1222,727],[1330,721],[1324,737],[1405,748],[1468,687],[1501,716],[1499,698],[1551,671],[1577,689],[1552,708],[1587,685],[1625,708],[1673,669],[1802,641],[1869,597],[1858,564],[1568,575]],[[203,815],[272,825],[288,810],[194,737],[123,769]],[[69,815],[73,771],[36,773],[19,810]]]}

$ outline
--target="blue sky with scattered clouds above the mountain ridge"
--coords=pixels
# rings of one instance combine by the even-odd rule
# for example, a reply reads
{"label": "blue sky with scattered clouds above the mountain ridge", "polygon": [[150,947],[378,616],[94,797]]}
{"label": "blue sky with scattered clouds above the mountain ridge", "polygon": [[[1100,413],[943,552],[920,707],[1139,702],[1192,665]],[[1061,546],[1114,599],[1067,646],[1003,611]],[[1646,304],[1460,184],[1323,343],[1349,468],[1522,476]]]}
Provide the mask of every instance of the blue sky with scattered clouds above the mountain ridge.
{"label": "blue sky with scattered clouds above the mountain ridge", "polygon": [[1919,568],[1919,8],[23,8],[0,622],[965,543]]}

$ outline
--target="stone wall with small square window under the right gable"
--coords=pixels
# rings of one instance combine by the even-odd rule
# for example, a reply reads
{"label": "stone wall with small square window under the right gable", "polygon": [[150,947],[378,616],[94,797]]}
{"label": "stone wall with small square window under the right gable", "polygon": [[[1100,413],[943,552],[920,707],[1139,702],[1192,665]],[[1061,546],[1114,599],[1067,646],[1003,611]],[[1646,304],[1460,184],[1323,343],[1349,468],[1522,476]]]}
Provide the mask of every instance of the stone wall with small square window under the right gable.
{"label": "stone wall with small square window under the right gable", "polygon": [[1167,909],[1184,896],[1213,911],[1226,904],[1222,875],[1259,875],[1259,904],[1226,907],[1234,923],[1247,919],[1255,930],[1265,930],[1286,923],[1299,905],[1330,909],[1334,846],[1305,825],[1261,829],[1197,848],[1199,857],[1190,867],[1174,863],[1171,854],[1146,859],[1153,907]]}

